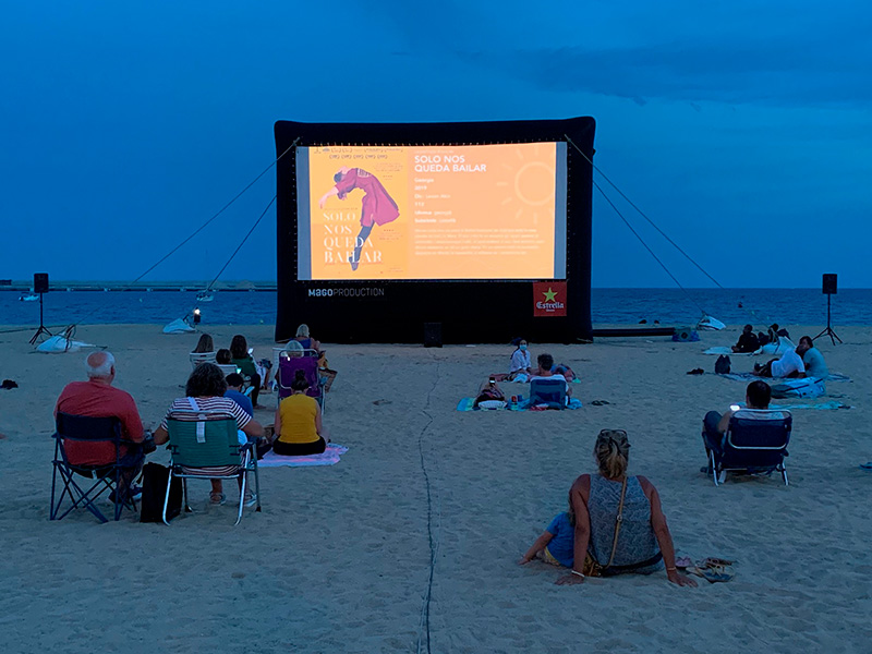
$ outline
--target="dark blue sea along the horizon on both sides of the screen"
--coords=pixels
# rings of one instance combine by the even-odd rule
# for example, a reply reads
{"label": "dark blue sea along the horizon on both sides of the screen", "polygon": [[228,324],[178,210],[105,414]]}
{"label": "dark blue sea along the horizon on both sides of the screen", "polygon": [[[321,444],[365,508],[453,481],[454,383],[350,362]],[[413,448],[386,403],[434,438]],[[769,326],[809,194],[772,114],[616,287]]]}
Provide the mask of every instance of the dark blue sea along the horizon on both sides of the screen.
{"label": "dark blue sea along the horizon on both sides of the screen", "polygon": [[[0,325],[36,326],[39,302],[0,291]],[[832,323],[872,325],[872,289],[839,289],[832,295]],[[217,291],[197,303],[194,291],[55,291],[44,295],[44,324],[166,325],[199,306],[203,325],[274,324],[275,291]],[[727,325],[772,323],[825,325],[826,295],[820,289],[592,289],[594,324],[690,326],[704,313]]]}

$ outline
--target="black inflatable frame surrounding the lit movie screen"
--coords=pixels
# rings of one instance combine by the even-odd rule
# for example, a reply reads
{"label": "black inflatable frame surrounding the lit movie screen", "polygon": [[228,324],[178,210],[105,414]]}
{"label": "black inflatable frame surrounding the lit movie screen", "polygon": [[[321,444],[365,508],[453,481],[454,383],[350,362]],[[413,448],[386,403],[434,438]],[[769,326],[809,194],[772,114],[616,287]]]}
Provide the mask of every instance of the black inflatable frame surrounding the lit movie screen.
{"label": "black inflatable frame surrounding the lit movie screen", "polygon": [[[593,169],[590,161],[594,154],[594,130],[595,121],[590,117],[464,123],[277,121],[276,154],[280,159],[276,166],[276,340],[293,338],[301,323],[307,324],[318,339],[336,343],[420,343],[425,323],[440,324],[446,343],[498,343],[516,336],[535,342],[591,340]],[[566,317],[533,316],[530,280],[307,281],[296,278],[294,147],[485,145],[567,140],[572,143],[567,144]],[[289,147],[291,149],[286,153]]]}

